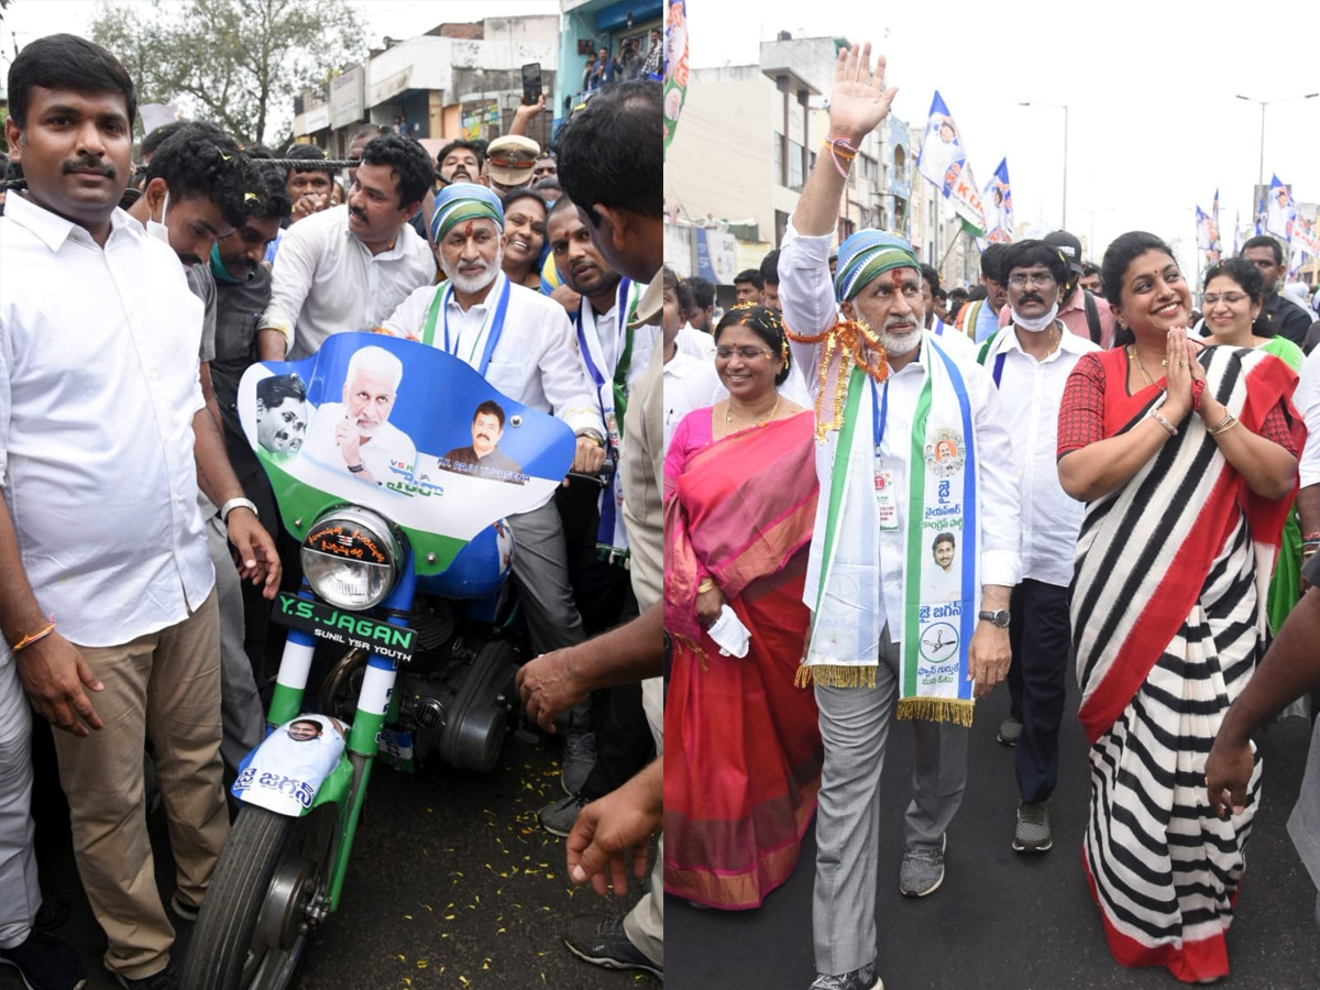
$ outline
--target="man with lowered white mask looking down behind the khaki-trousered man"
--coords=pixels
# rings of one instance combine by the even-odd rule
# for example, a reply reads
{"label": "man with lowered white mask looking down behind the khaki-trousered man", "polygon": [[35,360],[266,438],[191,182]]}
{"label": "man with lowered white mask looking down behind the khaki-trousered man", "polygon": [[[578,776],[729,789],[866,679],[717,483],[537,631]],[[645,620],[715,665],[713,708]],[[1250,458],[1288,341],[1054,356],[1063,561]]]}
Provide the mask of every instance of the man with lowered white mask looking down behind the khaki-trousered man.
{"label": "man with lowered white mask looking down behind the khaki-trousered man", "polygon": [[[260,199],[255,191],[257,182],[255,168],[228,135],[214,124],[191,121],[181,124],[156,149],[143,195],[128,211],[149,235],[173,248],[187,271],[189,288],[202,300],[205,315],[198,354],[202,395],[218,430],[223,430],[223,417],[210,374],[215,358],[218,298],[211,256],[218,239],[234,236],[235,228],[246,224],[247,211]],[[261,742],[265,719],[252,667],[243,649],[243,590],[230,565],[224,520],[205,494],[198,494],[198,502],[206,520],[220,607],[220,722],[224,730],[220,755],[230,772],[236,774],[239,762]],[[263,515],[246,494],[243,503],[272,524],[272,510]],[[275,541],[264,528],[261,539],[269,558],[276,560]]]}

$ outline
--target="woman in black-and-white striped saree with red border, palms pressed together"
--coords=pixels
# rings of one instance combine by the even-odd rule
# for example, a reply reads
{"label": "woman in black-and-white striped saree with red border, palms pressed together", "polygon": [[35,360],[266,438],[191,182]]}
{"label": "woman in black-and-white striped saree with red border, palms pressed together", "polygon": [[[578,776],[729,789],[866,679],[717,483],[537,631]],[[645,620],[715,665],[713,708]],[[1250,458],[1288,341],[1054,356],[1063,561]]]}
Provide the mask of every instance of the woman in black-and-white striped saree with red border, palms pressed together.
{"label": "woman in black-and-white striped saree with red border, palms pressed together", "polygon": [[1191,292],[1159,238],[1118,238],[1101,279],[1131,343],[1085,355],[1059,414],[1059,477],[1088,503],[1072,587],[1082,859],[1114,958],[1212,982],[1261,767],[1221,821],[1205,756],[1255,665],[1305,430],[1283,362],[1187,339]]}

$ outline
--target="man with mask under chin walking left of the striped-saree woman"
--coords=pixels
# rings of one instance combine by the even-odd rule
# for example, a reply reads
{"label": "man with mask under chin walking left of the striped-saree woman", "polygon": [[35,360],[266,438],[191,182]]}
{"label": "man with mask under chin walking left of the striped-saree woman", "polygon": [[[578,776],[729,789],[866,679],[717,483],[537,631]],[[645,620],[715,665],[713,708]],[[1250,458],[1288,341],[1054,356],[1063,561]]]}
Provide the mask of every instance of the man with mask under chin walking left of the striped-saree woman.
{"label": "man with mask under chin walking left of the striped-saree woman", "polygon": [[1059,725],[1072,624],[1068,585],[1085,506],[1059,483],[1059,404],[1078,359],[1100,350],[1069,333],[1059,297],[1071,275],[1065,255],[1040,240],[1003,252],[1011,323],[981,347],[978,360],[1005,395],[1003,418],[1022,477],[1022,582],[1012,590],[1008,626],[1010,714],[999,742],[1016,746],[1018,820],[1012,847],[1043,853],[1053,843],[1049,795],[1059,777]]}

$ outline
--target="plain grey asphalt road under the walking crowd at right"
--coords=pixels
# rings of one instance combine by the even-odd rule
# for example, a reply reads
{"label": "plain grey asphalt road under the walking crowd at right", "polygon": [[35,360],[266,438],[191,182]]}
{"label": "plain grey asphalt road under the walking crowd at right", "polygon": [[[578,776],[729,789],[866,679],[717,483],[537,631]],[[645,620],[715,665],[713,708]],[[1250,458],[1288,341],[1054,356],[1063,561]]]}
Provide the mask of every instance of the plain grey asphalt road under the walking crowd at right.
{"label": "plain grey asphalt road under the walking crowd at right", "polygon": [[[879,973],[887,990],[1172,990],[1167,970],[1123,969],[1113,961],[1100,912],[1086,888],[1081,838],[1088,803],[1086,742],[1069,685],[1060,783],[1053,797],[1055,846],[1023,855],[1010,842],[1016,808],[1012,750],[995,743],[1007,714],[999,688],[972,727],[969,781],[949,829],[945,879],[913,900],[898,891],[902,817],[911,780],[912,737],[890,733],[883,775],[876,904]],[[1233,990],[1320,987],[1315,887],[1286,832],[1309,741],[1309,725],[1288,718],[1258,741],[1265,758],[1262,805],[1247,846],[1247,869],[1229,932]],[[812,957],[814,830],[791,880],[752,912],[697,911],[668,898],[667,978],[671,990],[744,987],[807,990]]]}

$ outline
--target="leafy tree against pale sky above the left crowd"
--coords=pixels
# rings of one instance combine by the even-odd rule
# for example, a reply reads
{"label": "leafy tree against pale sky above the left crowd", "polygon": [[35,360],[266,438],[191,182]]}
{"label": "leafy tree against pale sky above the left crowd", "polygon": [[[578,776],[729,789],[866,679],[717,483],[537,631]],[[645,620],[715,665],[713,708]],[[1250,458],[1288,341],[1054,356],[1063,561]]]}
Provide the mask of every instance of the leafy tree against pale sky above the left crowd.
{"label": "leafy tree against pale sky above the left crowd", "polygon": [[161,0],[100,8],[91,38],[124,63],[139,103],[173,103],[265,143],[296,94],[364,51],[347,0]]}

